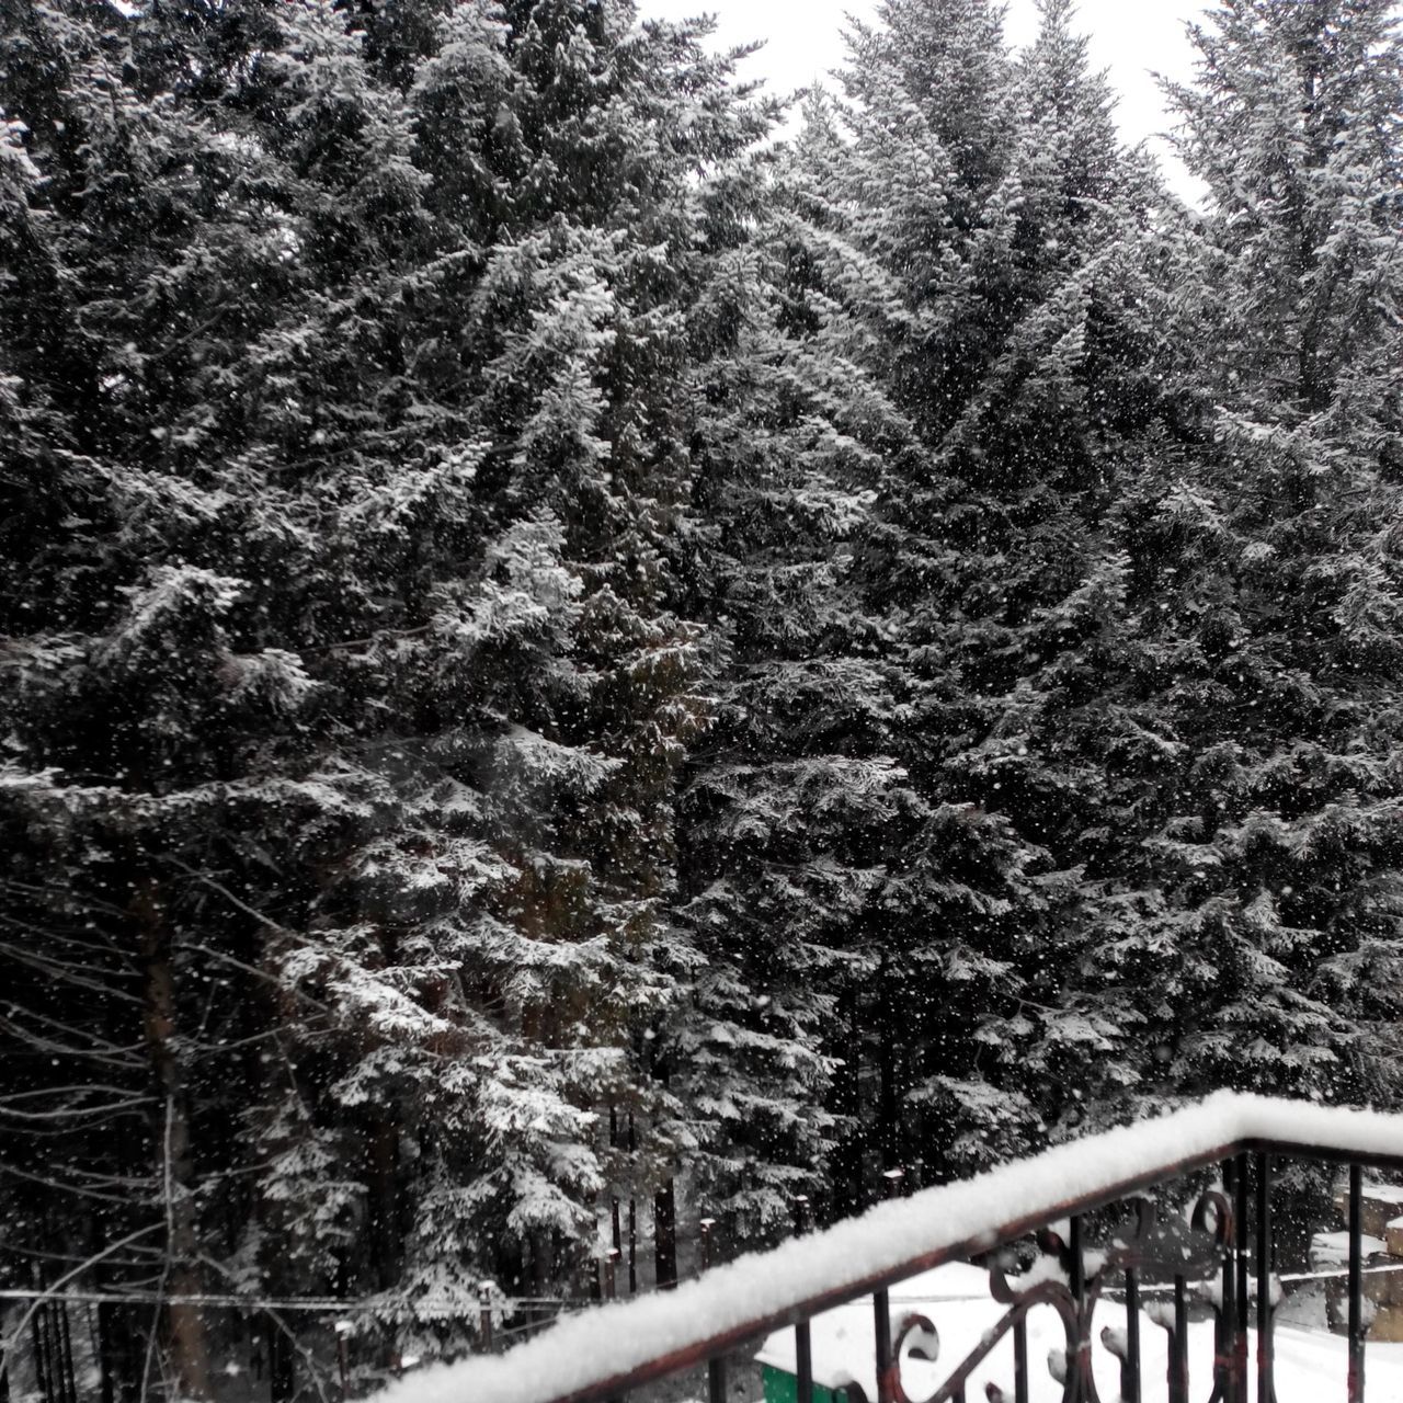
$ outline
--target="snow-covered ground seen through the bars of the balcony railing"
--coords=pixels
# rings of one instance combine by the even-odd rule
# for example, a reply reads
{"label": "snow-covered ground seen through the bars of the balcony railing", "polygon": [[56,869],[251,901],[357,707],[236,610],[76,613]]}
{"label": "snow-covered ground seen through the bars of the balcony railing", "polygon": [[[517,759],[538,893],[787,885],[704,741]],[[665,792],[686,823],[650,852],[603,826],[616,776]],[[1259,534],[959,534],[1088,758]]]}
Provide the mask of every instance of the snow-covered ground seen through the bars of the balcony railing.
{"label": "snow-covered ground seen through the bars of the balcony railing", "polygon": [[[906,1360],[902,1378],[912,1397],[926,1397],[981,1343],[1003,1316],[1006,1308],[989,1298],[989,1274],[978,1267],[953,1263],[904,1281],[891,1291],[891,1316],[895,1323],[904,1312],[919,1312],[936,1327],[939,1352],[934,1364]],[[1155,1306],[1148,1308],[1150,1312]],[[1101,1330],[1124,1330],[1125,1306],[1100,1302],[1092,1337]],[[859,1383],[868,1399],[877,1397],[875,1360],[873,1354],[871,1298],[815,1316],[811,1326],[814,1382],[825,1388]],[[1322,1403],[1345,1395],[1345,1340],[1324,1330],[1278,1326],[1277,1403]],[[1066,1347],[1062,1320],[1051,1306],[1035,1306],[1028,1315],[1030,1403],[1061,1403],[1062,1385],[1047,1367],[1049,1354]],[[1096,1385],[1103,1399],[1120,1397],[1120,1361],[1104,1347],[1092,1351]],[[1256,1371],[1257,1334],[1247,1345],[1249,1369]],[[777,1330],[759,1352],[762,1364],[794,1372],[794,1331]],[[1188,1327],[1188,1381],[1194,1397],[1207,1397],[1214,1369],[1212,1320],[1197,1320]],[[1164,1396],[1169,1374],[1169,1336],[1152,1315],[1141,1312],[1141,1379],[1143,1396]],[[1371,1397],[1403,1399],[1403,1344],[1371,1344],[1367,1351],[1365,1379]],[[1013,1397],[1013,1336],[1007,1334],[971,1376],[968,1396],[985,1396],[985,1383],[996,1383]],[[1256,1392],[1256,1385],[1253,1385]]]}

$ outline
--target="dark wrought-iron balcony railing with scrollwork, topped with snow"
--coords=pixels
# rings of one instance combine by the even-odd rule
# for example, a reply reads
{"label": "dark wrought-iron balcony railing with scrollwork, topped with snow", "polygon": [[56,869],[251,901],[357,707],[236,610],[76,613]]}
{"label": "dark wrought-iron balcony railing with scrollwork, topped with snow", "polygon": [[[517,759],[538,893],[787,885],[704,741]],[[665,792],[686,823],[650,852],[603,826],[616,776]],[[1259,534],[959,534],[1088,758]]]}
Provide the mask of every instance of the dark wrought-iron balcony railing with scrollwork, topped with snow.
{"label": "dark wrought-iron balcony railing with scrollwork, topped with snow", "polygon": [[[814,1403],[815,1317],[854,1302],[868,1322],[866,1358],[825,1385],[849,1403],[972,1403],[981,1379],[992,1403],[1111,1403],[1115,1388],[1125,1403],[1275,1403],[1273,1187],[1288,1162],[1334,1166],[1341,1176],[1347,1334],[1338,1378],[1313,1396],[1362,1403],[1364,1174],[1403,1169],[1403,1115],[1228,1093],[881,1204],[676,1291],[584,1310],[506,1354],[408,1378],[387,1403],[615,1403],[630,1395],[641,1403],[672,1376],[696,1381],[683,1396],[735,1403],[728,1358],[774,1331],[793,1331],[793,1396]],[[1187,1195],[1183,1216],[1166,1208],[1176,1184]],[[1038,1256],[1014,1264],[1030,1236]],[[1002,1313],[972,1348],[946,1360],[939,1306],[909,1309],[908,1294],[894,1288],[971,1258],[988,1270]],[[1159,1305],[1148,1316],[1142,1306],[1152,1296]],[[1030,1362],[1034,1312],[1042,1322],[1052,1312],[1059,1326],[1047,1364]],[[1212,1351],[1193,1358],[1190,1322],[1205,1313]],[[850,1322],[854,1310],[843,1315]],[[1153,1376],[1148,1320],[1163,1331],[1163,1374]],[[1299,1393],[1301,1381],[1294,1385]],[[1388,1396],[1403,1390],[1390,1382],[1381,1392]]]}

